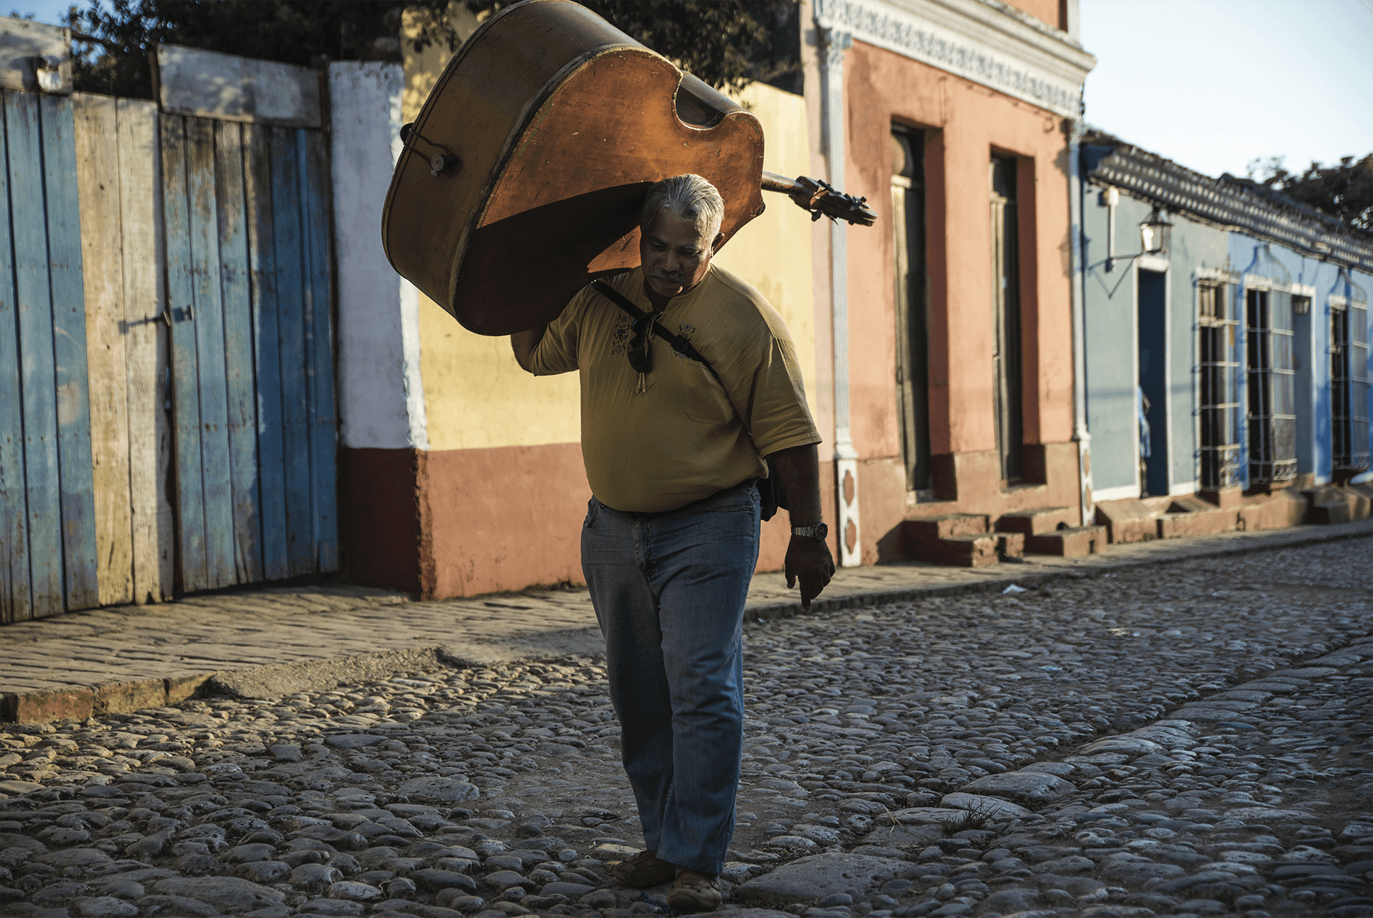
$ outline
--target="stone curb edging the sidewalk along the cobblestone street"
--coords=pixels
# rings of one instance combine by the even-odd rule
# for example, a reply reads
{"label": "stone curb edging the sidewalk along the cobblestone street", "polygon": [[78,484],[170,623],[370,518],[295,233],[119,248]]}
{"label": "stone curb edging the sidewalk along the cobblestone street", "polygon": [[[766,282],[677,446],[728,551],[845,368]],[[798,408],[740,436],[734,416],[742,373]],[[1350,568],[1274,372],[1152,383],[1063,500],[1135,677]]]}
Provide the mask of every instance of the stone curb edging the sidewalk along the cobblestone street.
{"label": "stone curb edging the sidewalk along the cobblestone street", "polygon": [[[798,602],[766,603],[744,609],[744,621],[759,623],[776,618],[794,618],[805,614],[822,614],[846,609],[868,609],[892,602],[913,599],[958,596],[979,592],[1001,592],[1011,584],[1043,584],[1061,580],[1089,580],[1107,570],[1126,570],[1155,565],[1181,563],[1197,558],[1218,558],[1245,555],[1276,548],[1300,548],[1304,546],[1350,541],[1373,537],[1373,529],[1355,532],[1310,532],[1292,539],[1273,539],[1260,544],[1199,546],[1196,551],[1177,558],[1138,558],[1107,562],[1094,568],[1061,568],[997,577],[962,584],[942,584],[931,587],[901,587],[895,590],[873,590],[869,592],[817,599],[809,610],[802,610]],[[541,632],[534,632],[541,634]],[[95,686],[73,688],[49,688],[32,693],[4,693],[0,695],[0,723],[36,724],[51,720],[84,720],[95,715],[133,713],[143,708],[163,708],[187,701],[202,694],[224,694],[239,698],[279,697],[294,691],[310,691],[334,687],[341,682],[357,679],[383,679],[398,672],[439,669],[443,667],[472,665],[453,647],[426,646],[411,650],[389,650],[375,654],[356,654],[314,660],[297,664],[268,664],[243,667],[242,669],[218,669],[165,679],[144,679],[137,682],[106,682]]]}

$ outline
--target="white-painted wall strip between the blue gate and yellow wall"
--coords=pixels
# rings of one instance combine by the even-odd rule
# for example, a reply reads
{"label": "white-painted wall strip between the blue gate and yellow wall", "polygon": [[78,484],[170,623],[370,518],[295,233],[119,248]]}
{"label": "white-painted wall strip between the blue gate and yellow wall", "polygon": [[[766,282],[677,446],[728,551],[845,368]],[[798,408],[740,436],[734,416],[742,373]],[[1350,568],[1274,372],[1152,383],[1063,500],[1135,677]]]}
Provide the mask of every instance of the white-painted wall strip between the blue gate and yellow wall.
{"label": "white-painted wall strip between the blue gate and yellow wall", "polygon": [[428,449],[419,295],[382,251],[404,85],[395,63],[330,65],[339,410],[354,449]]}

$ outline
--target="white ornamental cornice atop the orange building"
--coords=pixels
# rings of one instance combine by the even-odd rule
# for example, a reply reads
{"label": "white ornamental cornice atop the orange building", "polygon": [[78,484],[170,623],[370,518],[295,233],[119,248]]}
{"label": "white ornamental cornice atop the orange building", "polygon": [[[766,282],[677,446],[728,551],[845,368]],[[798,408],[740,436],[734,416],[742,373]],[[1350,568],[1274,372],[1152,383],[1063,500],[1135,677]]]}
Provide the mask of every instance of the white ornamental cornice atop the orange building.
{"label": "white ornamental cornice atop the orange building", "polygon": [[1054,114],[1076,118],[1096,59],[1064,34],[982,0],[814,0],[821,27],[947,70]]}

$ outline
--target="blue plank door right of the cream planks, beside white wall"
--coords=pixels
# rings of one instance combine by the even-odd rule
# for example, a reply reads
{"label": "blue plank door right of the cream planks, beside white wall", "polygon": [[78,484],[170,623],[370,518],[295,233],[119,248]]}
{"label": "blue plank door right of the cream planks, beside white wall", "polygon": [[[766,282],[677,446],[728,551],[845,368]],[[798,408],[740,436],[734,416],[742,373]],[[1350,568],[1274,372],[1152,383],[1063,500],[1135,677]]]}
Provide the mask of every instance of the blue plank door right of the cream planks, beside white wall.
{"label": "blue plank door right of the cream planks, beside white wall", "polygon": [[338,568],[319,131],[162,117],[183,591]]}

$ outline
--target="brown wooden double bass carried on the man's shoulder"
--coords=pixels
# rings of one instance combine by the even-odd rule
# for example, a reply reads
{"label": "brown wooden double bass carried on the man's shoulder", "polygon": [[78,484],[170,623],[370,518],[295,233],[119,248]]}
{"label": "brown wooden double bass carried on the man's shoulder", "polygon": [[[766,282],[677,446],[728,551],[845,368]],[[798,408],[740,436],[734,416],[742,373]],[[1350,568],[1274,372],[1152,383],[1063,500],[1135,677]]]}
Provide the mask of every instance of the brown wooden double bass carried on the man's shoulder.
{"label": "brown wooden double bass carried on the man's shoulder", "polygon": [[765,173],[758,118],[571,0],[487,18],[401,139],[386,256],[483,335],[551,322],[590,280],[637,265],[644,194],[669,176],[719,190],[726,240],[762,213],[762,190],[813,219],[876,219],[822,181]]}

